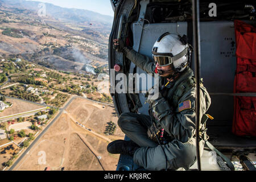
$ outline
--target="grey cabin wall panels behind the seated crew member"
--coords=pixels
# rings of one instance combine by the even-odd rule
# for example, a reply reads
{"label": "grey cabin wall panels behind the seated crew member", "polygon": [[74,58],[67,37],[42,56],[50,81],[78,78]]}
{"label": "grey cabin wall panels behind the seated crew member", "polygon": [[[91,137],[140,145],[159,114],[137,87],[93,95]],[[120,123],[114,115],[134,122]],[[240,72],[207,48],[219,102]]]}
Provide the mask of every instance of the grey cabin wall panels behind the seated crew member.
{"label": "grey cabin wall panels behind the seated crew member", "polygon": [[[138,52],[152,57],[151,49],[156,39],[164,32],[173,34],[188,35],[187,30],[192,30],[188,22],[177,23],[133,23],[133,48],[139,45]],[[142,34],[138,34],[142,28]],[[138,39],[141,39],[139,43]],[[192,38],[191,38],[192,39]],[[191,40],[192,41],[192,40]],[[201,43],[201,77],[204,85],[212,98],[212,105],[208,113],[214,117],[213,125],[232,125],[233,119],[233,97],[222,93],[233,93],[234,73],[236,71],[236,39],[234,35],[234,23],[231,21],[200,22],[200,43]],[[136,68],[137,73],[144,73]],[[192,59],[192,69],[193,59]],[[154,82],[154,79],[152,82]],[[148,90],[141,81],[137,81],[135,88],[144,91]],[[144,94],[139,94],[144,103]],[[148,114],[148,105],[139,108],[139,113]]]}

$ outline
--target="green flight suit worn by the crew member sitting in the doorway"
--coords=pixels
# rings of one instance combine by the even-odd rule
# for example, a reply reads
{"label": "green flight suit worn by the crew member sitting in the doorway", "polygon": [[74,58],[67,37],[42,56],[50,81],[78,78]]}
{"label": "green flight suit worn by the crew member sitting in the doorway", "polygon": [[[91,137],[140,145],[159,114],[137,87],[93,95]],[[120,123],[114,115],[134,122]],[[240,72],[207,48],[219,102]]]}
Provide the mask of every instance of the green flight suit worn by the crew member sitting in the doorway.
{"label": "green flight suit worn by the crew member sitting in the doorway", "polygon": [[[134,50],[124,48],[126,57],[135,65],[147,73],[154,74],[155,64],[147,56],[143,56]],[[188,68],[171,84],[167,85],[168,92],[164,101],[164,112],[160,111],[160,120],[155,118],[157,129],[164,129],[168,143],[161,146],[150,139],[147,135],[148,128],[152,125],[149,115],[136,113],[122,113],[118,119],[118,125],[123,133],[141,148],[135,151],[134,163],[148,170],[162,170],[166,168],[166,157],[168,169],[183,167],[189,169],[196,162],[196,140],[195,140],[195,100],[196,85],[193,79],[193,71]],[[159,86],[166,84],[166,78],[159,78]],[[209,109],[210,97],[203,84],[200,84],[200,120],[203,114]],[[190,101],[190,107],[184,110],[179,104]],[[155,109],[157,110],[157,108]],[[166,115],[166,113],[168,113]],[[163,117],[161,117],[163,114]],[[200,141],[201,152],[203,152],[204,140]]]}

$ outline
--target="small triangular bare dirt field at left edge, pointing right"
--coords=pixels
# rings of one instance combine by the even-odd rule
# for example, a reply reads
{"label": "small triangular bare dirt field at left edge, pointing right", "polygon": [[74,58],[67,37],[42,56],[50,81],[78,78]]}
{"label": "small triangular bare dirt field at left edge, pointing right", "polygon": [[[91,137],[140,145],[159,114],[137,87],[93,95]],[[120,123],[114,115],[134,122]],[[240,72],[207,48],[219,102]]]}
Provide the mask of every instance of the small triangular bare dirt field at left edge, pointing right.
{"label": "small triangular bare dirt field at left edge, pointing right", "polygon": [[40,106],[40,105],[36,105],[36,104],[31,104],[28,102],[19,101],[19,100],[12,99],[12,98],[6,98],[6,101],[13,103],[13,106],[8,107],[5,110],[3,110],[0,113],[0,117],[4,117],[6,115],[23,113],[26,111],[36,110],[36,109],[40,109],[40,108],[44,107],[44,106]]}

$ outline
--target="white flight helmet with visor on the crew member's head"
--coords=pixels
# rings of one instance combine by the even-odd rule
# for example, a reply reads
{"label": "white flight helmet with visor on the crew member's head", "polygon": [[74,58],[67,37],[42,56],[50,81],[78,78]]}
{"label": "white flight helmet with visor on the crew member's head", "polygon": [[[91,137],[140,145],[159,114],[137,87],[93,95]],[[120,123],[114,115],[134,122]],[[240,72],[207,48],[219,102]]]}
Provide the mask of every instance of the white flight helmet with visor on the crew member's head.
{"label": "white flight helmet with visor on the crew member's head", "polygon": [[173,64],[176,72],[182,72],[189,64],[191,49],[187,43],[187,36],[170,34],[161,35],[152,48],[152,56],[160,66]]}

